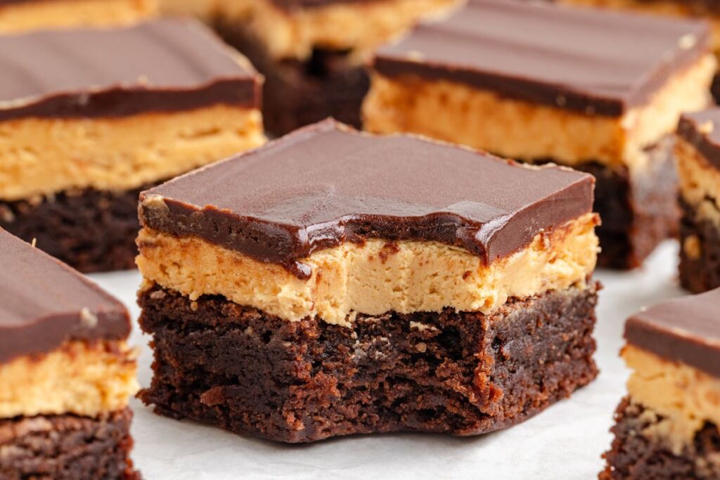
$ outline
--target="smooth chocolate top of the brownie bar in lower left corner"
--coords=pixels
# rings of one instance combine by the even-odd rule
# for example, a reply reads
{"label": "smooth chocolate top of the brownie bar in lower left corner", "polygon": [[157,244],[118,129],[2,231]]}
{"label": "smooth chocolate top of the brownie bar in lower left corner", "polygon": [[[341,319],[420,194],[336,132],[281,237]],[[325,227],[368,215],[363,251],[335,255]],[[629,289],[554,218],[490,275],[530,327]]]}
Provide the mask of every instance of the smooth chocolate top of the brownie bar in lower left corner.
{"label": "smooth chocolate top of the brownie bar in lower left corner", "polygon": [[0,265],[0,362],[47,353],[66,340],[130,335],[130,317],[120,302],[2,229]]}

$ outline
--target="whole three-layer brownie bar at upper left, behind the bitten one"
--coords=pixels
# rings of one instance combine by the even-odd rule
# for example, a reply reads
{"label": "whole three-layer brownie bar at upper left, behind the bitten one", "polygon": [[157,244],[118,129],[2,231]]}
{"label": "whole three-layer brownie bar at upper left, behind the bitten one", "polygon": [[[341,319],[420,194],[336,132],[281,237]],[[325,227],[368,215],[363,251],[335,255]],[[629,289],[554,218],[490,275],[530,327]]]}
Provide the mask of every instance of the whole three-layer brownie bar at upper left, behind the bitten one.
{"label": "whole three-layer brownie bar at upper left, behind the bitten one", "polygon": [[133,268],[140,191],[261,145],[259,88],[194,21],[0,37],[0,227]]}

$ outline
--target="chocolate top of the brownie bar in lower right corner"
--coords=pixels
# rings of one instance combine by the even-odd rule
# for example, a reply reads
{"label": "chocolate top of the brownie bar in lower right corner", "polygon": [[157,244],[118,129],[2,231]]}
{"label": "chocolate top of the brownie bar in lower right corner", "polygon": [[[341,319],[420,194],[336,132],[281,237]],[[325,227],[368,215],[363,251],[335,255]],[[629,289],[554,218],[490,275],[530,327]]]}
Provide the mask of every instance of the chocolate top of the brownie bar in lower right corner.
{"label": "chocolate top of the brownie bar in lower right corner", "polygon": [[630,317],[631,345],[720,377],[720,289],[657,304]]}

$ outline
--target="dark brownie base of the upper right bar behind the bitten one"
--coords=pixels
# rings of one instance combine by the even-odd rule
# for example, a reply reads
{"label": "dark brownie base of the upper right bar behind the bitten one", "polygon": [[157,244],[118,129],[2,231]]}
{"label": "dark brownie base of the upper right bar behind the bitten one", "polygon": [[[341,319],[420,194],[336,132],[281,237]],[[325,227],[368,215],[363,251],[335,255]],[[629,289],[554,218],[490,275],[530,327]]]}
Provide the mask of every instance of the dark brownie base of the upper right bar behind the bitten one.
{"label": "dark brownie base of the upper right bar behind the bitten one", "polygon": [[652,167],[642,175],[599,163],[575,168],[595,176],[595,212],[602,225],[596,232],[602,251],[598,266],[628,270],[642,265],[657,245],[678,235],[678,174],[670,142],[653,154]]}

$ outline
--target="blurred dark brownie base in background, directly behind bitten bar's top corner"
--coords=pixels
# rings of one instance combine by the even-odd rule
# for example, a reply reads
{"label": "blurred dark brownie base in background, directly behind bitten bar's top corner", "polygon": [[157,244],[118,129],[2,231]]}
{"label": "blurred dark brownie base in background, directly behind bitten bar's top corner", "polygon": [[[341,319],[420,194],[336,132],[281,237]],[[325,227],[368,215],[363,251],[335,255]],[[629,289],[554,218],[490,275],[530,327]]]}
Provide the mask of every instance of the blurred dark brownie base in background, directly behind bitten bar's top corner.
{"label": "blurred dark brownie base in background, directly behind bitten bar's top corner", "polygon": [[270,135],[279,137],[328,117],[361,127],[370,79],[362,65],[351,63],[348,52],[315,50],[305,62],[278,61],[242,26],[222,19],[214,26],[265,76],[263,119]]}

